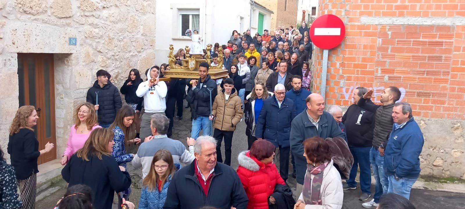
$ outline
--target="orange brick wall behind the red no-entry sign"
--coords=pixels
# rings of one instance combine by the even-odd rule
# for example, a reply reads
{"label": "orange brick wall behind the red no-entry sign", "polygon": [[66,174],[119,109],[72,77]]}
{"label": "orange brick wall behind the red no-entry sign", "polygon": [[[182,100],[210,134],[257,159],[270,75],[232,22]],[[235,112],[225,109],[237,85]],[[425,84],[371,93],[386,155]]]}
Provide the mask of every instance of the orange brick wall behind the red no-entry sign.
{"label": "orange brick wall behind the red no-entry sign", "polygon": [[[465,119],[465,0],[351,2],[319,0],[319,15],[335,14],[346,27],[343,43],[329,52],[326,103],[352,104],[358,86],[374,88],[379,101],[383,89],[394,85],[414,116]],[[402,18],[412,21],[397,25]],[[462,25],[454,25],[460,18]],[[315,92],[322,53],[315,47]]]}

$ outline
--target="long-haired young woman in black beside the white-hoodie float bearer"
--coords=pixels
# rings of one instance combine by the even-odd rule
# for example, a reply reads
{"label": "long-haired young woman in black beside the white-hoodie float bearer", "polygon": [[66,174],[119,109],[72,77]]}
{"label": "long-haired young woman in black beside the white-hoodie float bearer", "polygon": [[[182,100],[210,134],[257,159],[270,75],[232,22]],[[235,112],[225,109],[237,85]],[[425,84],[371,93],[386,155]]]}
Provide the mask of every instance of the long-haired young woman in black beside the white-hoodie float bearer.
{"label": "long-haired young woman in black beside the white-hoodie float bearer", "polygon": [[134,117],[134,124],[136,125],[136,138],[139,138],[139,130],[140,130],[140,111],[142,110],[142,102],[144,98],[138,97],[136,95],[137,87],[139,84],[144,82],[142,78],[140,78],[140,73],[137,69],[131,69],[129,71],[129,76],[127,77],[126,81],[124,82],[123,86],[120,88],[121,94],[124,94],[124,99],[126,100],[126,104],[131,106],[133,110],[136,112]]}

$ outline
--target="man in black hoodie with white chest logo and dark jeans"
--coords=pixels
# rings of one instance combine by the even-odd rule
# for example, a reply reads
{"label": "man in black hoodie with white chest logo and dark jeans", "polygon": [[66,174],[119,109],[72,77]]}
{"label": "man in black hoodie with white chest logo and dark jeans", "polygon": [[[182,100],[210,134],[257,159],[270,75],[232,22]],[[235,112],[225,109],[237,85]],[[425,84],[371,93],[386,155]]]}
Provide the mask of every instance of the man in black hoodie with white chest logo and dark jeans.
{"label": "man in black hoodie with white chest logo and dark jeans", "polygon": [[[359,197],[360,201],[368,200],[371,196],[371,170],[370,170],[370,150],[373,143],[373,129],[375,114],[359,107],[357,104],[360,99],[364,99],[363,95],[368,91],[365,87],[357,87],[353,91],[354,104],[349,106],[344,116],[342,123],[347,129],[347,144],[353,156],[353,165],[349,179],[343,185],[343,189],[357,189],[355,177],[357,169],[360,166],[360,189],[362,194]],[[367,103],[372,103],[367,100]]]}

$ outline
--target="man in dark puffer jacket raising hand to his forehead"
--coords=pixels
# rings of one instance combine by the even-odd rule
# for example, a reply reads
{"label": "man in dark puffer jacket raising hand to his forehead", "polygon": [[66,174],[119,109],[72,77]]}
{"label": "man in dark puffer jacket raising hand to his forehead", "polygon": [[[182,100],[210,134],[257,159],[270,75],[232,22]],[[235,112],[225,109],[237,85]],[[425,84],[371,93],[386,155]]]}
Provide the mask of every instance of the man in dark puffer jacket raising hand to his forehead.
{"label": "man in dark puffer jacket raising hand to his forehead", "polygon": [[401,96],[399,88],[389,86],[381,93],[381,103],[383,105],[376,105],[367,102],[367,99],[370,99],[372,94],[373,90],[368,91],[363,95],[364,99],[360,99],[357,104],[359,107],[375,113],[375,128],[373,130],[373,146],[370,150],[370,163],[372,164],[376,186],[372,201],[363,203],[362,206],[364,208],[378,207],[379,197],[387,193],[389,181],[384,168],[384,148],[387,144],[387,138],[392,131],[392,124],[394,124],[392,120],[392,108]]}

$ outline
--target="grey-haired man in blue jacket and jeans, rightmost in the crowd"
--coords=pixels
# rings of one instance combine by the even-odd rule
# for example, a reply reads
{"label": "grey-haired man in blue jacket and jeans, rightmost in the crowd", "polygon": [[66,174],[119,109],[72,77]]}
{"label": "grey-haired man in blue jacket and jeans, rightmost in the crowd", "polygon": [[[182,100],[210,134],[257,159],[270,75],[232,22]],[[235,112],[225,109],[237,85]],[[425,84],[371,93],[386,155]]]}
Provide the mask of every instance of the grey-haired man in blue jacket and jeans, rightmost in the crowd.
{"label": "grey-haired man in blue jacket and jeans, rightmost in the crowd", "polygon": [[387,193],[395,193],[407,199],[420,175],[420,153],[425,139],[412,117],[412,106],[406,102],[392,108],[392,132],[384,151],[384,165],[388,176]]}

